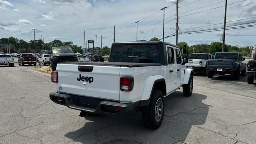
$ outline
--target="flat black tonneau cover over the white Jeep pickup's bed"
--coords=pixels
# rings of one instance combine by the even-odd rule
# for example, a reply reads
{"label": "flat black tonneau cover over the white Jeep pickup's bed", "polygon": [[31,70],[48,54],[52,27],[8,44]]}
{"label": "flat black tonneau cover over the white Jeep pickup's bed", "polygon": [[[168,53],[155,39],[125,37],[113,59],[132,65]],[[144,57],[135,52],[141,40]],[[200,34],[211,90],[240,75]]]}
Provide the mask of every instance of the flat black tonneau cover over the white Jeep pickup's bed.
{"label": "flat black tonneau cover over the white Jeep pickup's bed", "polygon": [[59,62],[59,64],[78,64],[78,65],[96,65],[96,66],[124,66],[129,68],[143,66],[162,66],[154,63],[133,63],[133,62]]}

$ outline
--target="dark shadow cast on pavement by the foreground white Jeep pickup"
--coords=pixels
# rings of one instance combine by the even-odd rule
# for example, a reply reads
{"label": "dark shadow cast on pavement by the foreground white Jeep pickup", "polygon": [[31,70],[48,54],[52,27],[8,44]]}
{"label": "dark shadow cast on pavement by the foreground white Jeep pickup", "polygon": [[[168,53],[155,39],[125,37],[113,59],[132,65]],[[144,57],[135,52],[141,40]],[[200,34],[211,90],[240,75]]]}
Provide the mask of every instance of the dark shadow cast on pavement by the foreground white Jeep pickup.
{"label": "dark shadow cast on pavement by the foreground white Jeep pickup", "polygon": [[[209,111],[204,104],[206,96],[193,93],[191,97],[182,92],[174,92],[165,98],[165,112],[162,125],[157,130],[144,127],[141,112],[129,112],[123,115],[96,115],[75,122],[80,128],[64,136],[71,142],[109,143],[109,144],[171,144],[184,142],[192,137],[192,125],[203,125]],[[73,123],[74,124],[74,123]],[[194,139],[193,139],[194,140]],[[186,140],[190,141],[190,140]],[[190,141],[191,142],[191,141]],[[195,142],[192,143],[197,143]]]}

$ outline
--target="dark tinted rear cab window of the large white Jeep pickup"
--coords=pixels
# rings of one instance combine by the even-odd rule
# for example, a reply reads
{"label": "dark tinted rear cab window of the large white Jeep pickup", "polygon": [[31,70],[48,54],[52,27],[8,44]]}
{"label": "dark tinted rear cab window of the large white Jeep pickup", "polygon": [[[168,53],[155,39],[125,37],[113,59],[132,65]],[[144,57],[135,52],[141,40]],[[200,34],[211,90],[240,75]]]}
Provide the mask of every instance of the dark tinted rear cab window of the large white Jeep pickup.
{"label": "dark tinted rear cab window of the large white Jeep pickup", "polygon": [[159,48],[155,44],[115,45],[110,62],[159,63]]}

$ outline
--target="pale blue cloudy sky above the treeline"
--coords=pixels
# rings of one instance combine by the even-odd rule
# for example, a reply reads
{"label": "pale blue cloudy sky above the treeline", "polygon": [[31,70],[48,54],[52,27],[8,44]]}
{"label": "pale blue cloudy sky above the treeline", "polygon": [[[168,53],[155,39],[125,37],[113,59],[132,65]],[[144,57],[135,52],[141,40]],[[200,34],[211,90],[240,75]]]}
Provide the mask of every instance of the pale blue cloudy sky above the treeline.
{"label": "pale blue cloudy sky above the treeline", "polygon": [[[111,46],[116,26],[116,42],[162,38],[175,44],[176,0],[0,0],[0,38],[14,36],[29,41],[44,37],[72,41],[84,46],[86,40],[102,35],[102,46]],[[194,44],[220,42],[225,0],[180,0],[178,41]],[[226,44],[256,45],[256,0],[228,0]],[[240,26],[246,28],[240,28]],[[219,29],[216,29],[219,28]],[[239,28],[239,29],[238,29]],[[210,32],[196,33],[198,30]],[[201,31],[200,31],[201,32]],[[188,34],[191,33],[191,34]],[[194,33],[194,34],[193,34]]]}

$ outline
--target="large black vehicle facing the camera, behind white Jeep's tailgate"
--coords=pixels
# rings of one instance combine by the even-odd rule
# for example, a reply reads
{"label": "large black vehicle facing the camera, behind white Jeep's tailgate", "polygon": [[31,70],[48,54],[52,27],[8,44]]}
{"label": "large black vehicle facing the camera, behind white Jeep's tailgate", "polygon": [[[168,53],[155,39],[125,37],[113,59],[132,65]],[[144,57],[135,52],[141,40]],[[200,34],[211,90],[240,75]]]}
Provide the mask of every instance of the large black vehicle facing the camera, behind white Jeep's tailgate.
{"label": "large black vehicle facing the camera, behind white Jeep's tailgate", "polygon": [[50,65],[52,71],[56,70],[59,62],[78,62],[78,56],[70,47],[52,47],[52,56],[50,57]]}

